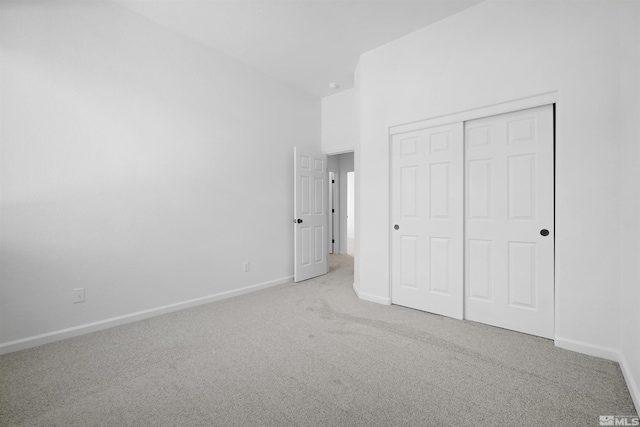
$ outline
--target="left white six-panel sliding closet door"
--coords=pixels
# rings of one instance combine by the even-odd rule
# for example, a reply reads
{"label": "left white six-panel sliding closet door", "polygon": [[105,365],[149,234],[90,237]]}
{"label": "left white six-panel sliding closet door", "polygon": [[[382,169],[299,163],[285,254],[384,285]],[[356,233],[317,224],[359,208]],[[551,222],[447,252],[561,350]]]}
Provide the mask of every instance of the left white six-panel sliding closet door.
{"label": "left white six-panel sliding closet door", "polygon": [[391,301],[461,319],[463,125],[393,136]]}

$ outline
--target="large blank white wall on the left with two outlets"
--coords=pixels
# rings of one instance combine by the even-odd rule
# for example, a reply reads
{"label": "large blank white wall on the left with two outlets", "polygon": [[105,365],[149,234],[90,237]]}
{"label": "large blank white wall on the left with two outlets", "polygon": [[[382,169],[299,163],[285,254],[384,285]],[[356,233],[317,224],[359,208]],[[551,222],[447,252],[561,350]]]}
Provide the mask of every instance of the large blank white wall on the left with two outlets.
{"label": "large blank white wall on the left with two outlets", "polygon": [[293,274],[319,100],[111,2],[1,7],[0,350]]}

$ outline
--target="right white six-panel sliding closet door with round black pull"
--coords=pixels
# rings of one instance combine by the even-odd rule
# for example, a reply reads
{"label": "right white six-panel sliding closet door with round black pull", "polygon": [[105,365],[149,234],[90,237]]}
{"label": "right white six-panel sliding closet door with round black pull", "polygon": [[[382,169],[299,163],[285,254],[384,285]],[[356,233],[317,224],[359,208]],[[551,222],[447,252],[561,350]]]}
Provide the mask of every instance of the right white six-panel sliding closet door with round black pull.
{"label": "right white six-panel sliding closet door with round black pull", "polygon": [[465,318],[553,338],[553,107],[466,122],[465,143]]}

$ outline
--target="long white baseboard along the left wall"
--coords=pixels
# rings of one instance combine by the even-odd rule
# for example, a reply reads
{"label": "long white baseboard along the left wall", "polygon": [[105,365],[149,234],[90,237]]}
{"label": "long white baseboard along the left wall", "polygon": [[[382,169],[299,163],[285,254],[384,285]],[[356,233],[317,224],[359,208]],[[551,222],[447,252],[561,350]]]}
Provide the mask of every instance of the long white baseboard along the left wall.
{"label": "long white baseboard along the left wall", "polygon": [[232,291],[220,292],[218,294],[208,295],[206,297],[196,298],[188,301],[182,301],[179,303],[169,304],[162,307],[156,307],[149,310],[126,314],[124,316],[112,317],[110,319],[99,320],[97,322],[87,323],[80,326],[74,326],[73,328],[62,329],[58,331],[48,332],[46,334],[35,335],[32,337],[23,338],[15,341],[9,341],[9,342],[0,344],[0,354],[12,353],[14,351],[24,350],[24,349],[36,347],[39,345],[60,341],[66,338],[77,337],[79,335],[101,331],[103,329],[109,329],[114,326],[124,325],[126,323],[147,319],[149,317],[159,316],[161,314],[171,313],[173,311],[195,307],[198,305],[207,304],[214,301],[220,301],[220,300],[235,297],[238,295],[255,292],[261,289],[270,288],[272,286],[289,283],[292,280],[293,280],[293,276],[287,276],[280,279],[270,280],[268,282],[258,283],[256,285],[246,286],[240,289],[234,289]]}

